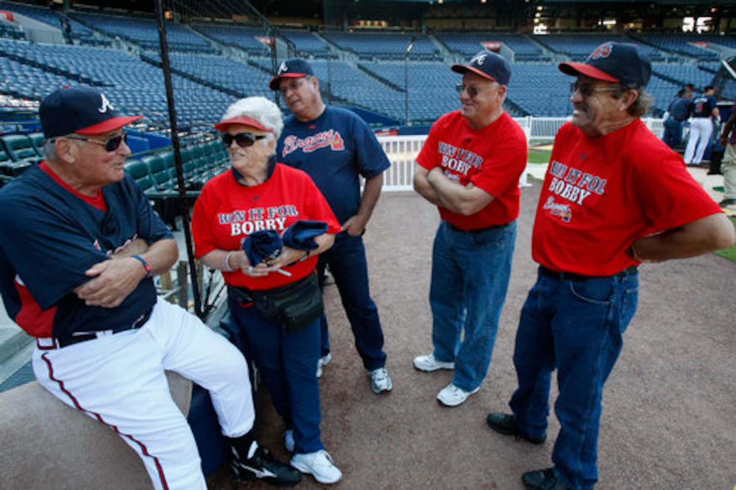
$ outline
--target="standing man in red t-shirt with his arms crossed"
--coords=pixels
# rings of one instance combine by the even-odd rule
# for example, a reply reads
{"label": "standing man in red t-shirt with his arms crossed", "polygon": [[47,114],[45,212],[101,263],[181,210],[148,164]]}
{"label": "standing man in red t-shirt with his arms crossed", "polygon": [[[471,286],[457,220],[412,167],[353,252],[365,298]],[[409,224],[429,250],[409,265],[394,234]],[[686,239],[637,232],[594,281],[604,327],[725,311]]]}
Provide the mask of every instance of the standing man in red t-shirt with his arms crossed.
{"label": "standing man in red t-shirt with his arms crossed", "polygon": [[437,400],[454,407],[480,389],[491,362],[516,241],[523,129],[503,110],[509,63],[482,51],[462,74],[461,110],[432,126],[414,167],[414,188],[436,205],[429,302],[434,351],[414,358],[431,372],[454,369]]}

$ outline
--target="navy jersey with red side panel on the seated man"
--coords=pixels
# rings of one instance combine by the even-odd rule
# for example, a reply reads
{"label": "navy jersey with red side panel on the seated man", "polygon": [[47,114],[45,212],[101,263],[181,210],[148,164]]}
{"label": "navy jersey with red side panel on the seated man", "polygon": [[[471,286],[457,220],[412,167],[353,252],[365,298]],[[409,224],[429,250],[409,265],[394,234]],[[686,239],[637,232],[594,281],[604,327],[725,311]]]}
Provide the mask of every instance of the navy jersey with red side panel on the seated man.
{"label": "navy jersey with red side panel on the seated man", "polygon": [[130,176],[102,188],[107,212],[64,188],[40,166],[0,189],[0,291],[10,318],[35,337],[132,324],[156,302],[146,278],[117,308],[87,306],[74,288],[85,271],[135,238],[172,238]]}

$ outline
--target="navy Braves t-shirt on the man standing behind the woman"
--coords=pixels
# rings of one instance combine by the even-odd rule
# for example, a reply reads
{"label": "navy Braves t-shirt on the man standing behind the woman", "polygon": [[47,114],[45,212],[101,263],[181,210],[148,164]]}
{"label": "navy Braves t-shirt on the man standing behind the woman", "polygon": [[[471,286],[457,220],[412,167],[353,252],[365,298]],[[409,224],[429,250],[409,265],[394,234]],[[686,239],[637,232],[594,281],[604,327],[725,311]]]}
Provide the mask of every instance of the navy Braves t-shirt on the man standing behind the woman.
{"label": "navy Braves t-shirt on the man standing behind the woman", "polygon": [[358,213],[358,174],[369,179],[391,166],[365,121],[349,110],[330,106],[313,121],[286,118],[276,155],[280,163],[312,177],[340,224]]}

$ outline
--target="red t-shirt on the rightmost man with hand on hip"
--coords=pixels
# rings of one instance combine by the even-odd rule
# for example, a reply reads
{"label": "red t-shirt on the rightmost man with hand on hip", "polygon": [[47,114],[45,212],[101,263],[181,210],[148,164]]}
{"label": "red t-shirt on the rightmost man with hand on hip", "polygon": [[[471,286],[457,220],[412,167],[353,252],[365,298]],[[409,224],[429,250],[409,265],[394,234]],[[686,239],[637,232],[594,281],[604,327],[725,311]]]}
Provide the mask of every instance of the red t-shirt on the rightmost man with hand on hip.
{"label": "red t-shirt on the rightmost man with hand on hip", "polygon": [[554,141],[531,252],[554,271],[609,276],[638,263],[626,254],[636,238],[720,212],[642,121],[598,138],[567,123]]}

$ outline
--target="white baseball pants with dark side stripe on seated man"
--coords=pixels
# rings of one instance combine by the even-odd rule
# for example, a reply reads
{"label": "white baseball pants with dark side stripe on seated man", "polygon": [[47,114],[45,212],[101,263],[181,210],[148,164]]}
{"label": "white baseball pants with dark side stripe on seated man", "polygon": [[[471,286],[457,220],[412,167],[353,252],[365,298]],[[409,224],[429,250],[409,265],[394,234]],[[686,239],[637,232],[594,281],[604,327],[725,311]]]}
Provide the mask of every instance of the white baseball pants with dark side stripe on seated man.
{"label": "white baseball pants with dark side stripe on seated man", "polygon": [[138,452],[157,490],[207,489],[197,444],[164,370],[210,392],[224,436],[242,436],[255,422],[248,367],[238,349],[162,299],[138,330],[36,349],[33,370],[55,397],[110,426]]}

